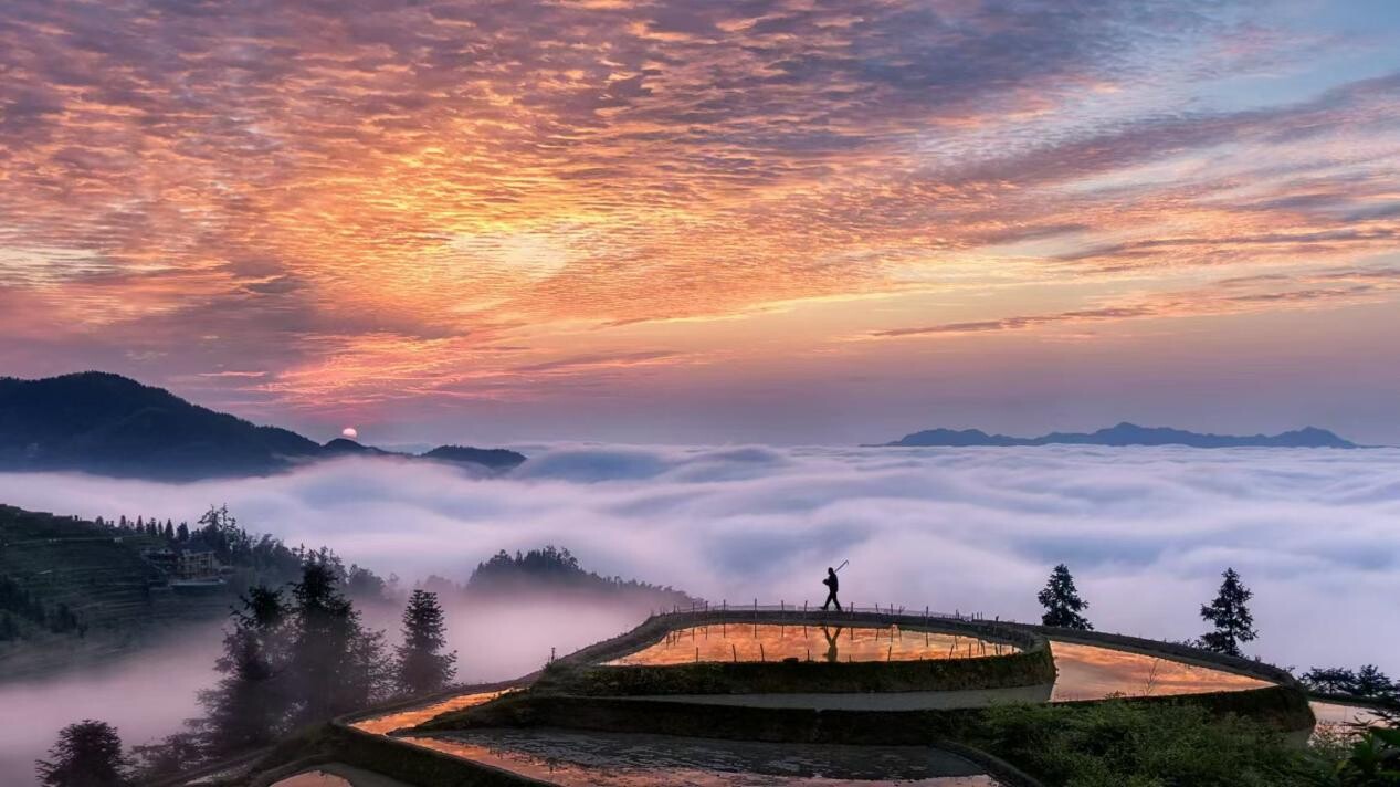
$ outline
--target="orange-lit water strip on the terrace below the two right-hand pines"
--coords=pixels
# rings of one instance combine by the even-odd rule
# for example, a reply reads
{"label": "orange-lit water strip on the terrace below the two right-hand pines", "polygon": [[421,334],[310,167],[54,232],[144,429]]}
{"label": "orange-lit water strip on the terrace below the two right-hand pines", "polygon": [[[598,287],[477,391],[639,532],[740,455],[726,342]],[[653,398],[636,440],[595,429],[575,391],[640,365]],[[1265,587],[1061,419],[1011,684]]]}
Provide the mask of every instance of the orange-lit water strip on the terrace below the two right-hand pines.
{"label": "orange-lit water strip on the terrace below the two right-hand pines", "polygon": [[1051,702],[1099,700],[1109,695],[1169,696],[1240,692],[1267,681],[1124,650],[1053,640],[1058,675]]}

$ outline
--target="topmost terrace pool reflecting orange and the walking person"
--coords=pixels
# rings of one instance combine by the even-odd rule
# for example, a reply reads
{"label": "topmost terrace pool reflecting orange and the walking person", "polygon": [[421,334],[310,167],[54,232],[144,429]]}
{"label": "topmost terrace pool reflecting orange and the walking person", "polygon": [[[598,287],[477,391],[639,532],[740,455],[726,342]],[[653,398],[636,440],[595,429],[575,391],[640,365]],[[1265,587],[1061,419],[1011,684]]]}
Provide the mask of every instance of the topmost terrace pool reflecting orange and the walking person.
{"label": "topmost terrace pool reflecting orange and the walking person", "polygon": [[728,623],[679,629],[610,665],[668,665],[696,661],[917,661],[1016,653],[1014,646],[976,637],[906,632],[899,626],[780,626]]}

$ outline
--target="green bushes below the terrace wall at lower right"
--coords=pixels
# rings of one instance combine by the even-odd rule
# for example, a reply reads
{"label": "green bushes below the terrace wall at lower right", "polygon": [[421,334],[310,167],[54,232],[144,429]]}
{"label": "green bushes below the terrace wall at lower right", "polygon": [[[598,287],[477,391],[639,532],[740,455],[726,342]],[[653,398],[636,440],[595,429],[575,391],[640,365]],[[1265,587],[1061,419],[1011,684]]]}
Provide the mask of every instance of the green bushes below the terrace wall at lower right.
{"label": "green bushes below the terrace wall at lower right", "polygon": [[1050,787],[1312,784],[1303,752],[1254,721],[1182,703],[993,707],[988,751]]}

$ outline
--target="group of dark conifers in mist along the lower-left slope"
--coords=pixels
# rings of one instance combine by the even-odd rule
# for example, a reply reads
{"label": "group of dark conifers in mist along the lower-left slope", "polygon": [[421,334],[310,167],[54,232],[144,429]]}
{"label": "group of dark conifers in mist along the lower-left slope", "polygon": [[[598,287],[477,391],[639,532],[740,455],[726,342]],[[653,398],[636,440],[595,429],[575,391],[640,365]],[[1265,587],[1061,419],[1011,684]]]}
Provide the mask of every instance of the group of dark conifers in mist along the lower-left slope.
{"label": "group of dark conifers in mist along the lower-left slope", "polygon": [[200,692],[204,716],[188,731],[127,756],[115,728],[84,720],[66,727],[36,770],[45,787],[130,787],[276,742],[293,730],[328,721],[393,696],[449,685],[456,653],[437,595],[414,590],[403,609],[403,641],[365,627],[347,597],[342,566],[308,553],[301,577],[286,588],[253,585],[231,611],[216,669]]}

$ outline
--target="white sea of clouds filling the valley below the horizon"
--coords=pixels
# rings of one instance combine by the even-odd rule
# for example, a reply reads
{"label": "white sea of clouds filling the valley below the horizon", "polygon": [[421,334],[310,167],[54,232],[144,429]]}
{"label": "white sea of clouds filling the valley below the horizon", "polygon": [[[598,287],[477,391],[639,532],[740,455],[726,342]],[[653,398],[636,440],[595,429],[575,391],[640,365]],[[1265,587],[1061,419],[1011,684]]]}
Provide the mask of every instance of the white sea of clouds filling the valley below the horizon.
{"label": "white sea of clouds filling the valley below the horizon", "polygon": [[346,459],[193,485],[0,475],[0,500],[193,518],[227,501],[291,543],[463,580],[497,549],[720,601],[801,602],[843,559],[848,602],[1033,619],[1065,562],[1099,629],[1186,639],[1233,566],[1253,651],[1400,672],[1400,450],[841,450],[554,445],[517,475]]}

